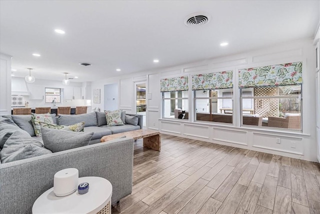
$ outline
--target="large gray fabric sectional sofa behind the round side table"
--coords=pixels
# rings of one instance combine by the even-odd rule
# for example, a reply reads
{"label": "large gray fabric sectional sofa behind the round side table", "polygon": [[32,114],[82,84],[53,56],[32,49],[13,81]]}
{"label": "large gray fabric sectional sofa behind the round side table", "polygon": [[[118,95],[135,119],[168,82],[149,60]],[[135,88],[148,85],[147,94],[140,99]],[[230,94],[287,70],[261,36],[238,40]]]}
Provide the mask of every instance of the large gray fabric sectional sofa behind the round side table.
{"label": "large gray fabric sectional sofa behind the round side table", "polygon": [[[130,194],[133,139],[121,138],[104,143],[98,142],[104,135],[142,128],[142,117],[138,115],[136,126],[125,124],[121,127],[107,127],[101,117],[102,114],[104,113],[92,112],[54,117],[55,123],[64,125],[74,124],[77,120],[85,121],[89,126],[84,127],[84,132],[94,132],[87,146],[0,163],[0,213],[31,213],[33,202],[53,186],[54,174],[64,168],[77,168],[79,177],[98,176],[108,179],[113,187],[112,203]],[[31,132],[31,129],[26,130],[27,127],[25,127],[29,122],[29,115],[19,116],[21,116],[20,120],[14,115],[4,117],[11,118],[20,128],[23,127],[25,131]],[[68,118],[71,116],[72,118]],[[25,122],[21,121],[23,119]],[[1,132],[1,135],[6,134],[3,130]],[[32,137],[41,141],[40,137]]]}

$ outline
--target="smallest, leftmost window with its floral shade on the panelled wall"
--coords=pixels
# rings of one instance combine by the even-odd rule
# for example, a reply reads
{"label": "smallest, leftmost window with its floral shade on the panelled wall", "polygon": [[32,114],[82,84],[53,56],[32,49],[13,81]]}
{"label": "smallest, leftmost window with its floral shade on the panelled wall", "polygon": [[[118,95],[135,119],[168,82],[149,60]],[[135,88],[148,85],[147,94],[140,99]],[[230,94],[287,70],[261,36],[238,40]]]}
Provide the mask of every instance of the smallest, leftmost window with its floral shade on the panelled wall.
{"label": "smallest, leftmost window with its floral shade on the panelled wall", "polygon": [[188,119],[188,76],[160,80],[162,117]]}

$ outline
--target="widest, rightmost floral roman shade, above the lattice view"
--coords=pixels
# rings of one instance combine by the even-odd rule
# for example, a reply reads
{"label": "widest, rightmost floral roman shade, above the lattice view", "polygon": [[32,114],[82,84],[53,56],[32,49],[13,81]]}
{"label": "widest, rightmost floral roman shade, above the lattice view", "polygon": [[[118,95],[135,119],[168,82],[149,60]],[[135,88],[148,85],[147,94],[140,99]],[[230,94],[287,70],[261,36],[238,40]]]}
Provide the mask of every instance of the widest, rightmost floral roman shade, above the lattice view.
{"label": "widest, rightmost floral roman shade, above the lattice view", "polygon": [[302,62],[239,69],[239,88],[302,84]]}

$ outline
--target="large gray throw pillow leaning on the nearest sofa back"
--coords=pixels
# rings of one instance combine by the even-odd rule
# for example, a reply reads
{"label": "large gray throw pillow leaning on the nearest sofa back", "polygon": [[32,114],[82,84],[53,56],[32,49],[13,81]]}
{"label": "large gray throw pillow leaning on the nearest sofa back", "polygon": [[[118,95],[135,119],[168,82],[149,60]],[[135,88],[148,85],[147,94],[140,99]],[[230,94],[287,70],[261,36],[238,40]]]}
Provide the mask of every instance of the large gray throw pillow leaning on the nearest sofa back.
{"label": "large gray throw pillow leaning on the nearest sofa back", "polygon": [[[93,112],[94,113],[94,112]],[[64,151],[86,146],[93,132],[72,132],[41,127],[42,140],[45,148],[52,152]]]}

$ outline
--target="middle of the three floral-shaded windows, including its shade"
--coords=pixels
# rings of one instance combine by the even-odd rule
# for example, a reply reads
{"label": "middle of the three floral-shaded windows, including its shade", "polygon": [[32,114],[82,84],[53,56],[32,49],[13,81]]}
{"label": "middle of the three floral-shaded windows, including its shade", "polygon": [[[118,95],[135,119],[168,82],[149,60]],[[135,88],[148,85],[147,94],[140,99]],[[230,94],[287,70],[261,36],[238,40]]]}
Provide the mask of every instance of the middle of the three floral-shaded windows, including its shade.
{"label": "middle of the three floral-shaded windows, including its shade", "polygon": [[196,121],[232,123],[233,71],[192,75]]}

